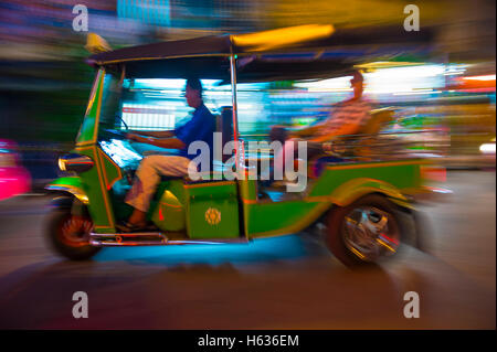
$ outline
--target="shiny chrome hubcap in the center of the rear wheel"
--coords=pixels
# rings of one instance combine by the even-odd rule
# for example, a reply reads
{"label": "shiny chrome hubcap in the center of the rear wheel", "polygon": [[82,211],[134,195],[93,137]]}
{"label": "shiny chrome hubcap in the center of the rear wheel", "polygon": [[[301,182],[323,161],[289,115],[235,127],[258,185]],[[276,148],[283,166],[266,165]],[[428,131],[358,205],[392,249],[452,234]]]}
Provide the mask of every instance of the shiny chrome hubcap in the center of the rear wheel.
{"label": "shiny chrome hubcap in the center of the rear wheel", "polygon": [[350,211],[343,222],[343,242],[347,248],[364,262],[396,253],[400,233],[394,217],[373,206]]}

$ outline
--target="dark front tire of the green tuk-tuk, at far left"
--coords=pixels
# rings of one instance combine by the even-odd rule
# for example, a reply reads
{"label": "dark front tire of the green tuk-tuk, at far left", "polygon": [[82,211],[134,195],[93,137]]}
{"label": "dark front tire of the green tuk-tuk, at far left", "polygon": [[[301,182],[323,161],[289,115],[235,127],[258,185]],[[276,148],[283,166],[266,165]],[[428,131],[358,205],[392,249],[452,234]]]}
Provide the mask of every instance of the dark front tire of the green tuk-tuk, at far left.
{"label": "dark front tire of the green tuk-tuk, at far left", "polygon": [[[71,221],[72,223],[70,223]],[[83,225],[80,226],[78,222],[82,222]],[[64,226],[81,228],[71,234],[67,227]],[[95,247],[89,244],[87,235],[91,226],[92,221],[88,216],[75,217],[71,214],[70,207],[56,209],[49,214],[45,236],[57,254],[71,260],[86,260],[101,250],[101,247]]]}

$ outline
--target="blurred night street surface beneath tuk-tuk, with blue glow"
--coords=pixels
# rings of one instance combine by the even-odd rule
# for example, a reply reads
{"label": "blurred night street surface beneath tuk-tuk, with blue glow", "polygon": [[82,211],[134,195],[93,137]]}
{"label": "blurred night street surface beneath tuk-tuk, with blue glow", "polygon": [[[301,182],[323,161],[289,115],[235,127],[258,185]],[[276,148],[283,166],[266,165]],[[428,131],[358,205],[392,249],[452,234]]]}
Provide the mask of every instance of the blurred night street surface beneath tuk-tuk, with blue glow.
{"label": "blurred night street surface beneath tuk-tuk, with blue glow", "polygon": [[[452,171],[453,196],[424,207],[431,253],[408,248],[352,271],[309,234],[250,244],[104,248],[57,257],[49,198],[0,203],[2,329],[495,329],[495,171]],[[271,221],[271,220],[267,220]],[[75,291],[87,319],[72,316]],[[403,295],[420,296],[406,319]]]}

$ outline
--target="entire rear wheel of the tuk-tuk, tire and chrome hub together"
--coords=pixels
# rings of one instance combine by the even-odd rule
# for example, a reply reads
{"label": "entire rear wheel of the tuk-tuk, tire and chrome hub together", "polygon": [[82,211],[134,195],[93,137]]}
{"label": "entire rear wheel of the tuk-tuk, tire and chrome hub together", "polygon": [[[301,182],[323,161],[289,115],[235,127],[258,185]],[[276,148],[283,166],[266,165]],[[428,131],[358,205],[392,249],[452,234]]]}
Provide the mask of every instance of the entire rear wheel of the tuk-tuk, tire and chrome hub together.
{"label": "entire rear wheel of the tuk-tuk, tire and chrome hub together", "polygon": [[379,194],[337,206],[328,217],[327,244],[346,266],[392,257],[401,245],[402,224],[395,205]]}

